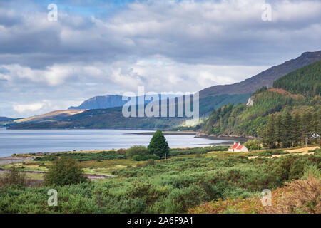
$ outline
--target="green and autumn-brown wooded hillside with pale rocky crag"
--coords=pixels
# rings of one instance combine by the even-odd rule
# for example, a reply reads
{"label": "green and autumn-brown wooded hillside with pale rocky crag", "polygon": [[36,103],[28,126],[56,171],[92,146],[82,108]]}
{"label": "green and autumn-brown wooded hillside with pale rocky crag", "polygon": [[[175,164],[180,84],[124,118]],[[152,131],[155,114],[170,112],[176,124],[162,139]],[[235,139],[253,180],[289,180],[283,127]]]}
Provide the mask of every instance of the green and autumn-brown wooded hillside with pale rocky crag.
{"label": "green and autumn-brown wooded hillside with pale rocky crag", "polygon": [[[214,110],[202,126],[199,136],[205,135],[238,135],[262,137],[267,125],[268,115],[272,113],[320,113],[321,99],[315,94],[317,83],[320,83],[320,61],[300,70],[289,73],[275,83],[279,88],[263,87],[254,93],[250,105],[225,105]],[[320,71],[319,71],[320,72]],[[298,77],[301,75],[300,77]],[[300,90],[301,83],[305,90]],[[290,85],[290,86],[288,86]],[[314,85],[314,86],[306,86]],[[302,94],[293,94],[281,87],[289,88]],[[320,115],[319,115],[320,116]]]}

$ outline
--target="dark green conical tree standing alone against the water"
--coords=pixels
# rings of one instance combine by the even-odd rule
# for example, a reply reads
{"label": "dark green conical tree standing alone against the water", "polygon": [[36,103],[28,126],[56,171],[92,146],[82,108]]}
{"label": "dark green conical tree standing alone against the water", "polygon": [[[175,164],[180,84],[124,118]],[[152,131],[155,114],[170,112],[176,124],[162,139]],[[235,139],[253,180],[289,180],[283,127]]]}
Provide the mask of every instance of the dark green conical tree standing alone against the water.
{"label": "dark green conical tree standing alone against the water", "polygon": [[161,130],[156,130],[149,142],[148,150],[151,151],[151,154],[155,154],[158,157],[163,157],[168,155],[169,147],[168,143]]}

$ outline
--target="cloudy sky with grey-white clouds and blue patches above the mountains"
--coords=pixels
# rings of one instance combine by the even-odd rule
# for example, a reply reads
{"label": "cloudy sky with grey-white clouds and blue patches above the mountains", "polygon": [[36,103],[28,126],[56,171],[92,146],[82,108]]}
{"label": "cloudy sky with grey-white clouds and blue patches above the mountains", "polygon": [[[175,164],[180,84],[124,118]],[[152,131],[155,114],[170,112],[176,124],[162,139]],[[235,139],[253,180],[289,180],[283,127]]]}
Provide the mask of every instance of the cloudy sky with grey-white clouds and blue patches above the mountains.
{"label": "cloudy sky with grey-white clouds and blue patches above the mountains", "polygon": [[319,51],[320,13],[319,0],[0,0],[0,116],[243,81]]}

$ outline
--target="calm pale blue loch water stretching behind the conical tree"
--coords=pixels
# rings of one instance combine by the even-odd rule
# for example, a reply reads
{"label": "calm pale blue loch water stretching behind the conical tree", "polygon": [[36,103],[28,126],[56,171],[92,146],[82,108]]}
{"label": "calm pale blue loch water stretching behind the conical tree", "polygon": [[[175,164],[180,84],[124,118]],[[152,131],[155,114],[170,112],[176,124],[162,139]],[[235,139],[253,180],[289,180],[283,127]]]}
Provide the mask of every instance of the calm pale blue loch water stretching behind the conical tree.
{"label": "calm pale blue loch water stretching behind the conical tree", "polygon": [[[148,145],[151,135],[128,135],[147,130],[6,130],[0,128],[0,157],[14,153],[108,150]],[[165,135],[170,147],[200,147],[233,140],[194,138],[194,135]]]}

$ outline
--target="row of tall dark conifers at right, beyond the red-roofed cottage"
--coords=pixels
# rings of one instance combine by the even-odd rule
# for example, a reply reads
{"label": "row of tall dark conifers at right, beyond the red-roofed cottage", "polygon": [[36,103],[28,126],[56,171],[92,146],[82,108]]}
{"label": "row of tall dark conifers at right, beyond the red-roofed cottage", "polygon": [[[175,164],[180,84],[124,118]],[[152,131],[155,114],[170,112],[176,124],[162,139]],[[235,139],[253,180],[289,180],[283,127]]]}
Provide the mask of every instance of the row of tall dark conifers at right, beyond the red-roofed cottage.
{"label": "row of tall dark conifers at right, beyond the red-roofed cottage", "polygon": [[267,121],[263,143],[270,149],[288,148],[320,142],[321,112],[291,115],[271,114]]}

